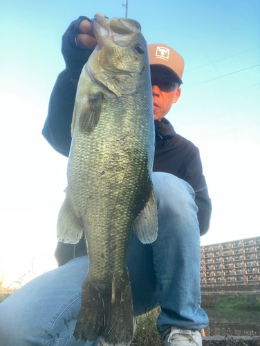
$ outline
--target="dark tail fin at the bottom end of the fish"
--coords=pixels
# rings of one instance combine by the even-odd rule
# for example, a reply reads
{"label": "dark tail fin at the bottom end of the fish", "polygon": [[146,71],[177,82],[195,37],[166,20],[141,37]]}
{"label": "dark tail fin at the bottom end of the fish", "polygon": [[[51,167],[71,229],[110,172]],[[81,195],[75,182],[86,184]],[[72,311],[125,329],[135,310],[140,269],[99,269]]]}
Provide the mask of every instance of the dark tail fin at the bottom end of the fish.
{"label": "dark tail fin at the bottom end of the fish", "polygon": [[86,277],[74,336],[82,341],[94,341],[102,336],[109,345],[130,345],[133,306],[128,274],[118,280],[113,275],[111,289],[102,289],[99,282]]}

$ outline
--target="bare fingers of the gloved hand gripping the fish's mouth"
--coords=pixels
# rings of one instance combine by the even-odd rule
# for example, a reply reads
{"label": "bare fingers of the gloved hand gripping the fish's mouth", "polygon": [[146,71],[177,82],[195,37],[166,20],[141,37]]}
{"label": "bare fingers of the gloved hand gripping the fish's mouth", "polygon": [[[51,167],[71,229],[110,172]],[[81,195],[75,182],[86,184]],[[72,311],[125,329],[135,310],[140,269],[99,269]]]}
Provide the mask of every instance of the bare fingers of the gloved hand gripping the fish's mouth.
{"label": "bare fingers of the gloved hand gripping the fish's mouth", "polygon": [[[94,17],[104,17],[101,13],[96,13]],[[88,20],[83,20],[80,23],[80,31],[81,34],[76,36],[77,46],[84,49],[94,49],[97,40],[95,39],[95,35],[91,28],[91,24]]]}

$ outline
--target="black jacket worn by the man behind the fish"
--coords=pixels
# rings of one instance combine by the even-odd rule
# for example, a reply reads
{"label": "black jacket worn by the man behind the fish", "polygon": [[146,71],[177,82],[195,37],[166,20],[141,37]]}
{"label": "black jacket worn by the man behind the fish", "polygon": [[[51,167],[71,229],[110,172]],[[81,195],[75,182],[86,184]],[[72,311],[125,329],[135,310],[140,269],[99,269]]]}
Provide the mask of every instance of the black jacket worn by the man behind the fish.
{"label": "black jacket worn by the man behind the fish", "polygon": [[[66,69],[58,75],[50,96],[48,116],[42,130],[48,143],[60,154],[68,156],[71,147],[71,119],[75,102],[75,86],[72,78],[78,78],[79,71],[89,58],[91,51],[75,46],[75,35],[80,22],[86,17],[73,21],[62,38],[62,53],[66,61]],[[77,57],[73,64],[73,51]],[[198,222],[201,235],[205,235],[210,227],[212,212],[211,200],[207,192],[207,184],[198,148],[189,140],[176,134],[168,120],[155,121],[156,150],[154,156],[154,172],[167,172],[178,176],[192,186],[195,191],[195,202],[198,206]],[[59,265],[73,258],[74,246],[57,245],[55,257]],[[86,254],[84,238],[75,246],[75,257]]]}

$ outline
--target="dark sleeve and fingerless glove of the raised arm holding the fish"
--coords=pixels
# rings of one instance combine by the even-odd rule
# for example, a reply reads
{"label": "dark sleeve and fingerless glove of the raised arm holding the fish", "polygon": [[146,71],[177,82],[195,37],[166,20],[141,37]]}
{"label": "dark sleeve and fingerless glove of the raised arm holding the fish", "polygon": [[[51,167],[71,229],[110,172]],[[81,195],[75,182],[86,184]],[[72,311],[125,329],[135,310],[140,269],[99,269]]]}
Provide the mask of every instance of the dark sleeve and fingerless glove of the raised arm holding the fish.
{"label": "dark sleeve and fingerless glove of the raised arm holding the fish", "polygon": [[60,154],[68,156],[71,147],[71,120],[76,89],[71,81],[80,78],[82,67],[92,53],[91,49],[79,48],[75,37],[80,33],[80,23],[89,18],[81,16],[71,23],[62,37],[62,54],[66,69],[59,73],[48,105],[48,116],[42,135]]}

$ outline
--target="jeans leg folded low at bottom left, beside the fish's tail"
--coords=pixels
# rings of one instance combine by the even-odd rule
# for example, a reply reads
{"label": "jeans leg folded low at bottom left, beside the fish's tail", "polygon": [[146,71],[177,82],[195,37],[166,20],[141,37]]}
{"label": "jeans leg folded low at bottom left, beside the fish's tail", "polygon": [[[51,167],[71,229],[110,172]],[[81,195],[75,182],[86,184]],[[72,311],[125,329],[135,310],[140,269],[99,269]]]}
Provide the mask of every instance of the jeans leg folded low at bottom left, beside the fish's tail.
{"label": "jeans leg folded low at bottom left, beside the fish's tail", "polygon": [[73,336],[80,312],[87,256],[28,282],[0,304],[1,346],[97,346]]}

